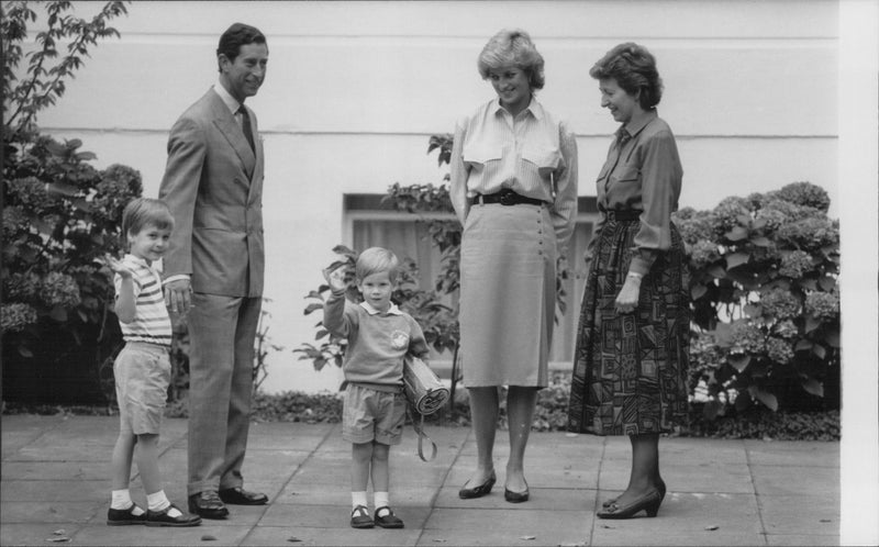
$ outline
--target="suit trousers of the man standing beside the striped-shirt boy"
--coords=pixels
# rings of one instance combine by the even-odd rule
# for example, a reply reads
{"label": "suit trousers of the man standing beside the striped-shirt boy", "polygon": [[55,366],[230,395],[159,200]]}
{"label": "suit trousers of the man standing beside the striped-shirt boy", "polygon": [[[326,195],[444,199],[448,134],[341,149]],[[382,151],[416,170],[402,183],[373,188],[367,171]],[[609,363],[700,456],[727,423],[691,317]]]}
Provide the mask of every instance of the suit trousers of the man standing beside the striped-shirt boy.
{"label": "suit trousers of the man standing beside the striped-shirt boy", "polygon": [[263,299],[194,293],[189,312],[188,495],[241,487]]}

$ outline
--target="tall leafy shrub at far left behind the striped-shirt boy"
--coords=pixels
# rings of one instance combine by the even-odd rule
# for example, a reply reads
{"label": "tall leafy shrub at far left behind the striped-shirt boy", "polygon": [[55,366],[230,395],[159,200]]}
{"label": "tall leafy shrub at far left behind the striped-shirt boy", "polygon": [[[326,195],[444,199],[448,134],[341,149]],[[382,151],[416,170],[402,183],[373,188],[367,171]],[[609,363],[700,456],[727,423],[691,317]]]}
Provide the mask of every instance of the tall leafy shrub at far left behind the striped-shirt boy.
{"label": "tall leafy shrub at far left behind the striped-shirt boy", "polygon": [[[45,11],[47,30],[24,53],[31,5]],[[121,341],[112,313],[112,279],[94,259],[116,254],[122,209],[142,192],[134,169],[97,169],[94,154],[79,139],[63,143],[41,135],[37,113],[64,94],[66,79],[82,66],[88,48],[118,36],[107,22],[125,13],[108,2],[87,21],[67,13],[70,2],[4,2],[3,51],[3,243],[2,321],[4,398],[85,395],[76,384],[46,392],[53,376],[82,365],[96,372]],[[57,44],[67,43],[59,57]],[[19,70],[26,59],[27,67]],[[57,63],[55,62],[57,59]],[[21,79],[20,79],[21,78]],[[51,343],[46,343],[51,341]],[[38,368],[49,369],[36,372]],[[56,375],[57,372],[57,375]],[[82,372],[82,371],[80,371]],[[98,386],[98,375],[93,383]],[[107,380],[107,369],[103,369]],[[30,382],[30,388],[23,383]],[[103,395],[112,397],[112,370]],[[96,388],[97,389],[97,388]]]}

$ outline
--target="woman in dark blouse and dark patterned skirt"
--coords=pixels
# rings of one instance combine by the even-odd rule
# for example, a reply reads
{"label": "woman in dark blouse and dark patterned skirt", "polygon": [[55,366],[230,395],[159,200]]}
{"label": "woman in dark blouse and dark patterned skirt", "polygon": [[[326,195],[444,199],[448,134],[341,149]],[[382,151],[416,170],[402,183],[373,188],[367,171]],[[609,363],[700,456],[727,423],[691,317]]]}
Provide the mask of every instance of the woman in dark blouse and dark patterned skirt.
{"label": "woman in dark blouse and dark patterned skirt", "polygon": [[600,220],[586,254],[568,428],[628,435],[632,444],[628,487],[598,516],[656,516],[666,493],[659,434],[687,418],[689,295],[670,219],[682,169],[656,112],[663,83],[654,56],[621,44],[589,74],[600,82],[602,108],[622,126],[597,181]]}

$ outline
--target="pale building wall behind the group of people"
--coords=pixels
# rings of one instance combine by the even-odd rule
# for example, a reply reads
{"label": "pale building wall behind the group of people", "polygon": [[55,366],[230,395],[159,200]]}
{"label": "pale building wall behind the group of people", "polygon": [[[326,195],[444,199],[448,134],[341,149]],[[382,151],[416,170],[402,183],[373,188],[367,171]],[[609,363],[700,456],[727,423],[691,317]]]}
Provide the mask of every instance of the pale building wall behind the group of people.
{"label": "pale building wall behind the group of people", "polygon": [[[96,4],[75,3],[78,12]],[[711,208],[809,180],[837,196],[837,44],[834,0],[522,2],[149,2],[113,22],[120,40],[93,48],[58,104],[40,116],[58,138],[81,138],[104,167],[138,169],[155,196],[167,132],[216,79],[220,34],[233,22],[268,37],[257,112],[266,146],[268,391],[334,389],[290,349],[313,341],[303,297],[331,248],[346,242],[342,196],[393,182],[438,182],[427,138],[492,97],[476,57],[498,30],[527,30],[546,58],[542,102],[578,135],[580,194],[615,124],[588,70],[613,45],[657,56],[659,107],[678,136],[681,206]]]}

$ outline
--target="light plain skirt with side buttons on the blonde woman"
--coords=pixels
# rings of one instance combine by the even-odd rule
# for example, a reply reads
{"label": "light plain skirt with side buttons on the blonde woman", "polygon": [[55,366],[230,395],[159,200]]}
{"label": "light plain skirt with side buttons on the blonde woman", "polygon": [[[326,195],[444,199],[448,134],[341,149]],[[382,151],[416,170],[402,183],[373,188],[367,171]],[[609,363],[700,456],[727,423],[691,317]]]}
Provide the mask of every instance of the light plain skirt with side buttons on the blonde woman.
{"label": "light plain skirt with side buttons on the blonde woman", "polygon": [[467,388],[545,388],[556,305],[556,236],[541,205],[474,205],[460,250]]}

